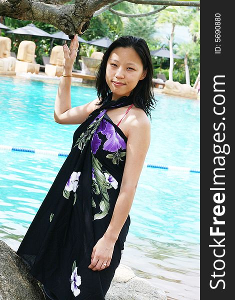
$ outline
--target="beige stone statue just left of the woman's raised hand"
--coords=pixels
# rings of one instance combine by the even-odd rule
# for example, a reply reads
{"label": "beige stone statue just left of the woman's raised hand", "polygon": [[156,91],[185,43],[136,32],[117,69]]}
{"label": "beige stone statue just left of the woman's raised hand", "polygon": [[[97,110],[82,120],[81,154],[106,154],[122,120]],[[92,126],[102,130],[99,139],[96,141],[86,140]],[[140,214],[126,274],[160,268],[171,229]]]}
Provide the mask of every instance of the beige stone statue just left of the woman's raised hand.
{"label": "beige stone statue just left of the woman's raised hand", "polygon": [[45,65],[45,74],[48,76],[61,76],[63,71],[63,47],[54,46],[50,54],[50,64]]}

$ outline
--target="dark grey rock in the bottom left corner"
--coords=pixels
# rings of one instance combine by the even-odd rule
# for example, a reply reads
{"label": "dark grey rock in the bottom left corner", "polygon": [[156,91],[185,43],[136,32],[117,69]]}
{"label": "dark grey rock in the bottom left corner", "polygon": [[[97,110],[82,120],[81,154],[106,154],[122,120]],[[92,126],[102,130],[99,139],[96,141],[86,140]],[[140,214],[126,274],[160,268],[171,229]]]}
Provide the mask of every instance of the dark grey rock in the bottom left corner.
{"label": "dark grey rock in the bottom left corner", "polygon": [[0,300],[45,300],[27,265],[0,240]]}

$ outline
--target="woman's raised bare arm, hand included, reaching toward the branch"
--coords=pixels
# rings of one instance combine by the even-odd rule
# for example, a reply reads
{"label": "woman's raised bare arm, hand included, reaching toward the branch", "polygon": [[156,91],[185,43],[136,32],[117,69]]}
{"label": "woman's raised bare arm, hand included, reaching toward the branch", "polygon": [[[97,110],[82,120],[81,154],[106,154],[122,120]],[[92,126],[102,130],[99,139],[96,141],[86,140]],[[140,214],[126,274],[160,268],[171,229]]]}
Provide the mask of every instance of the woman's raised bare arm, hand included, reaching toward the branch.
{"label": "woman's raised bare arm, hand included, reaching toward the branch", "polygon": [[[76,58],[76,50],[79,46],[77,34],[71,40],[68,48],[67,44],[63,46],[63,74],[71,75],[72,66]],[[87,116],[99,105],[95,105],[98,98],[80,106],[71,107],[71,77],[60,77],[60,82],[54,103],[54,120],[59,124],[80,124]]]}

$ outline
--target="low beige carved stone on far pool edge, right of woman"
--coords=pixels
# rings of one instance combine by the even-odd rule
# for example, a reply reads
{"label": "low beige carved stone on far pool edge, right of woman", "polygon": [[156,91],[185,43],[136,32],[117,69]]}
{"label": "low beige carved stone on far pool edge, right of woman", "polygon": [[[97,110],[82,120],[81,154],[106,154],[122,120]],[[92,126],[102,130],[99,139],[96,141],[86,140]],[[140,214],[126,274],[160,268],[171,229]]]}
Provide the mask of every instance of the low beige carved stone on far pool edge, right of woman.
{"label": "low beige carved stone on far pool edge, right of woman", "polygon": [[166,80],[162,92],[170,95],[197,99],[196,88],[193,88],[186,83],[181,84],[178,81]]}

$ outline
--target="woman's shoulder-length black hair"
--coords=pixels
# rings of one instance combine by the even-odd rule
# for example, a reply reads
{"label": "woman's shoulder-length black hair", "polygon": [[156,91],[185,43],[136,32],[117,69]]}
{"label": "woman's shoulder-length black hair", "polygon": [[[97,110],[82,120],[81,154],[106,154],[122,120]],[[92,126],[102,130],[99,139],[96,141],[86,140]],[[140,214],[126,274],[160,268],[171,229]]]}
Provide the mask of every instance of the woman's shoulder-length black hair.
{"label": "woman's shoulder-length black hair", "polygon": [[147,70],[145,78],[138,81],[131,94],[133,95],[134,105],[136,107],[142,108],[145,113],[150,116],[151,119],[150,110],[154,108],[153,103],[157,101],[154,98],[153,93],[153,67],[147,43],[143,38],[140,37],[132,35],[120,36],[119,38],[114,40],[105,51],[96,72],[95,88],[97,90],[97,96],[100,100],[97,105],[102,104],[104,99],[111,93],[111,90],[105,80],[106,65],[111,51],[117,47],[133,48],[142,61],[143,69]]}

